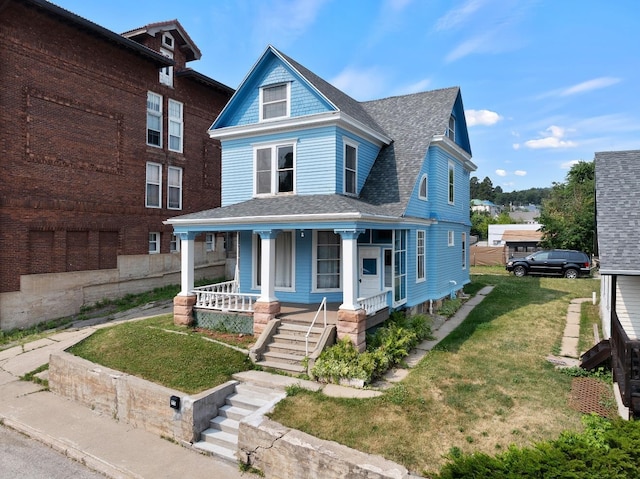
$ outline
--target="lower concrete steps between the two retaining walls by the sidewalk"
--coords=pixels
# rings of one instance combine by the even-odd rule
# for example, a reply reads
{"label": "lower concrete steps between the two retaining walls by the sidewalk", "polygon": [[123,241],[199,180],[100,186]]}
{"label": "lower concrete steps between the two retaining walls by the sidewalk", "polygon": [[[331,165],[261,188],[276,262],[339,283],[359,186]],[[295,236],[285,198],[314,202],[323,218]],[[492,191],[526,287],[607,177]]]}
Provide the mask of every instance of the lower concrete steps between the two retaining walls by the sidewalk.
{"label": "lower concrete steps between the two retaining walls by the sidewalk", "polygon": [[237,462],[238,427],[240,421],[262,407],[271,407],[282,399],[278,390],[247,383],[238,383],[235,392],[227,396],[218,415],[209,421],[209,428],[200,434],[193,446],[207,454]]}

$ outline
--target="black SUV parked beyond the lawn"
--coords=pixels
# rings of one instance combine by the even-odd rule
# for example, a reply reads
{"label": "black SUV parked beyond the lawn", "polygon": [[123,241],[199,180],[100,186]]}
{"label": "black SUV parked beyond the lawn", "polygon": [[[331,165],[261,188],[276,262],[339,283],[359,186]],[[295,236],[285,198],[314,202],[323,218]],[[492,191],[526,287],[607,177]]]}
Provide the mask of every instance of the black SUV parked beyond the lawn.
{"label": "black SUV parked beyond the lawn", "polygon": [[591,275],[589,256],[581,251],[552,249],[536,251],[525,258],[510,258],[507,271],[520,277],[526,274],[548,274],[577,278]]}

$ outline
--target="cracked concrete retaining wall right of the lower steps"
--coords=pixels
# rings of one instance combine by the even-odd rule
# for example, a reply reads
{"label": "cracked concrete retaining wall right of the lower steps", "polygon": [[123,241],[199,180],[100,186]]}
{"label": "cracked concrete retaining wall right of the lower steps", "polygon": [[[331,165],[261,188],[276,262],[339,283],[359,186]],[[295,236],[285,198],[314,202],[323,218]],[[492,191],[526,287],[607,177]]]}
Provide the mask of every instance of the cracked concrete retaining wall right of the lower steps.
{"label": "cracked concrete retaining wall right of the lower steps", "polygon": [[238,459],[265,477],[298,479],[404,479],[417,477],[380,456],[323,441],[254,414],[240,423]]}

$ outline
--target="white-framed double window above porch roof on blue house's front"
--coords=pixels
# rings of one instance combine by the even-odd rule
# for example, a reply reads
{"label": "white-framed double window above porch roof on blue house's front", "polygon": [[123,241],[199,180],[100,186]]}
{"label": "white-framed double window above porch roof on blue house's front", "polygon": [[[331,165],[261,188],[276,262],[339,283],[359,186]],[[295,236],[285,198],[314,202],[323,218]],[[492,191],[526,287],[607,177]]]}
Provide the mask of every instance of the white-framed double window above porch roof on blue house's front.
{"label": "white-framed double window above porch roof on blue house's front", "polygon": [[295,145],[272,145],[255,149],[256,195],[293,193],[295,186]]}

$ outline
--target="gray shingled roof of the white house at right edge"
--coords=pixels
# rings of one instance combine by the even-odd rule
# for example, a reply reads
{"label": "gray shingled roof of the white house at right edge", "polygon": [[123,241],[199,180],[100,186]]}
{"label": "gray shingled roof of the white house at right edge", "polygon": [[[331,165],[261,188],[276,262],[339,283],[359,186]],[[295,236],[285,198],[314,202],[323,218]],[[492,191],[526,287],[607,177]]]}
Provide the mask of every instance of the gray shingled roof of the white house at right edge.
{"label": "gray shingled roof of the white house at right edge", "polygon": [[640,150],[595,155],[601,274],[640,275]]}

